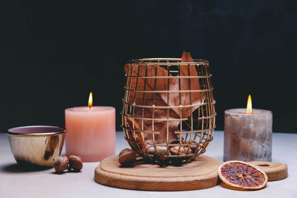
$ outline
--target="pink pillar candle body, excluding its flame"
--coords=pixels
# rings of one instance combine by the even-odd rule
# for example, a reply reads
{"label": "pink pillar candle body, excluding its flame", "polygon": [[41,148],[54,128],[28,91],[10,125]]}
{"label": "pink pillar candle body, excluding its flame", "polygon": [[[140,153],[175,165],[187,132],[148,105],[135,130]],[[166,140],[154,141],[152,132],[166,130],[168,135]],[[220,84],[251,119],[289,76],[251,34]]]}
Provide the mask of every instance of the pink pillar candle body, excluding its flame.
{"label": "pink pillar candle body, excluding its flame", "polygon": [[114,107],[72,107],[65,110],[66,156],[80,156],[84,162],[102,161],[114,155],[116,110]]}

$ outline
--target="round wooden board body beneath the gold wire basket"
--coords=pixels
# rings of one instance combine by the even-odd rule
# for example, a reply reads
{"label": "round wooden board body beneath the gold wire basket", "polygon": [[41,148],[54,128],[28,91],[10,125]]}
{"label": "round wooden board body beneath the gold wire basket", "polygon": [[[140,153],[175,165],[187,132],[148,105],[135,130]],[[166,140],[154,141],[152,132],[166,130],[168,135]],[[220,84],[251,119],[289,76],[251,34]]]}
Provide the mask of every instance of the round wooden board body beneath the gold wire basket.
{"label": "round wooden board body beneath the gold wire basket", "polygon": [[200,155],[189,164],[159,166],[145,164],[139,157],[134,168],[122,168],[119,156],[105,158],[95,169],[97,183],[122,189],[146,191],[188,191],[217,186],[217,168],[222,162]]}

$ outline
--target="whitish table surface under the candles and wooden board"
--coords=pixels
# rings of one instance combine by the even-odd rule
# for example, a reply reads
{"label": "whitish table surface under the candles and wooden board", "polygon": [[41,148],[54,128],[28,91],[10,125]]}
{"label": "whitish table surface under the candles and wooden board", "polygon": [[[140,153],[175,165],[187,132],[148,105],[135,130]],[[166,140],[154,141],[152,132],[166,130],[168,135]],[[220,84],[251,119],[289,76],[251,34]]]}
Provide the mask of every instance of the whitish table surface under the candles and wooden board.
{"label": "whitish table surface under the candles and wooden board", "polygon": [[[205,155],[223,161],[223,131],[214,132]],[[116,153],[129,148],[124,133],[116,133]],[[63,148],[61,156],[65,155]],[[55,170],[25,171],[18,168],[8,136],[0,133],[0,197],[297,197],[297,134],[273,133],[272,161],[288,165],[288,177],[268,182],[258,191],[240,191],[220,185],[196,191],[134,191],[103,186],[94,181],[99,162],[84,162],[78,173],[54,174]]]}

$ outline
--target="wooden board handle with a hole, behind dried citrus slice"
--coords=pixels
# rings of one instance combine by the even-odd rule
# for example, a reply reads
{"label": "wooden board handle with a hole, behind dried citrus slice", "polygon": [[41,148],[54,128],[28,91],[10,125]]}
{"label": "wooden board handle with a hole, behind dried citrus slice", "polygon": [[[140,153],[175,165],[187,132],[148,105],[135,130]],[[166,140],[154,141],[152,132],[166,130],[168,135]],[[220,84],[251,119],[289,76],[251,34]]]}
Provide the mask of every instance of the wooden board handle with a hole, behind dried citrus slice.
{"label": "wooden board handle with a hole, behind dried citrus slice", "polygon": [[249,163],[259,167],[266,172],[268,181],[284,179],[288,176],[287,164],[270,161],[250,161]]}

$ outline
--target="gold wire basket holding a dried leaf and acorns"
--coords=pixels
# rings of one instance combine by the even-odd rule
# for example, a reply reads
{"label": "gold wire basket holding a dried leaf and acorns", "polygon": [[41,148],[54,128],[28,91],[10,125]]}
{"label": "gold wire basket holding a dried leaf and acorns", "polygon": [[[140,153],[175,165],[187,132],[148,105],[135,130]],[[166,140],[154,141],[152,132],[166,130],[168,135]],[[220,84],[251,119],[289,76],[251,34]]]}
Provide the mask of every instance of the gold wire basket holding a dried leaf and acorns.
{"label": "gold wire basket holding a dried leaf and acorns", "polygon": [[186,164],[206,151],[216,127],[208,61],[149,58],[125,65],[125,140],[146,161]]}

